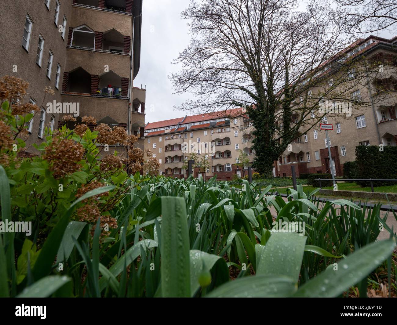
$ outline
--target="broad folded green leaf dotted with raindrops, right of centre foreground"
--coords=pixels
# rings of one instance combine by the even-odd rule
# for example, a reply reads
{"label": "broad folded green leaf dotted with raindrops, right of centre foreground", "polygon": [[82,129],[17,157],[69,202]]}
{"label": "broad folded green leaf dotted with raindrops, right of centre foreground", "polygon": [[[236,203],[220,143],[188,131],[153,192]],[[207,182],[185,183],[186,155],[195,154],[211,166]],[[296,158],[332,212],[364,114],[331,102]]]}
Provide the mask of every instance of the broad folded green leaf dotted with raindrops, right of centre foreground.
{"label": "broad folded green leaf dotted with raindrops, right of centre foreground", "polygon": [[273,233],[262,250],[256,274],[285,275],[297,283],[306,239],[296,233]]}

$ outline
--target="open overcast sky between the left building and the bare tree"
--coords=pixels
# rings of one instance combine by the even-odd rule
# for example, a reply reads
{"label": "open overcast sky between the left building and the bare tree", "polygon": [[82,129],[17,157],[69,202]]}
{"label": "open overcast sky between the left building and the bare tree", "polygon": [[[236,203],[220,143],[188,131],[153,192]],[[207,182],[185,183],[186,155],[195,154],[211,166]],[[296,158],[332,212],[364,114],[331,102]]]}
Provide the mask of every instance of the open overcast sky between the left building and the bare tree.
{"label": "open overcast sky between the left building and the bare tree", "polygon": [[[189,44],[187,21],[181,19],[188,5],[189,0],[143,0],[141,67],[134,86],[146,86],[145,123],[186,115],[173,106],[189,99],[189,94],[173,94],[168,75],[180,69],[171,62]],[[389,38],[391,34],[374,35]]]}

